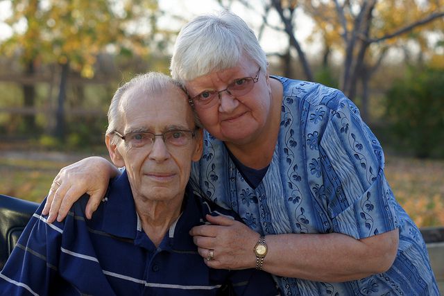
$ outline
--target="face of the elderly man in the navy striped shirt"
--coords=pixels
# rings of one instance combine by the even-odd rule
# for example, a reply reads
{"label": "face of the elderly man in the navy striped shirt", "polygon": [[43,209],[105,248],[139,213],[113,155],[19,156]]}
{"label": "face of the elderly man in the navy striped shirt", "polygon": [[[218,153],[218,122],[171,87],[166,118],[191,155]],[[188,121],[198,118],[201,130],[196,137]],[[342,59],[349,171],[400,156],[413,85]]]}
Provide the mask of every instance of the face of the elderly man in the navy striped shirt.
{"label": "face of the elderly man in the navy striped shirt", "polygon": [[[169,130],[195,130],[194,116],[187,96],[176,87],[146,97],[129,90],[122,98],[123,128],[129,132],[162,134]],[[114,164],[126,166],[134,198],[169,201],[185,193],[191,161],[197,162],[202,153],[202,131],[185,146],[166,144],[161,136],[154,143],[139,148],[119,140],[117,146],[107,146]],[[112,150],[114,153],[112,153]]]}

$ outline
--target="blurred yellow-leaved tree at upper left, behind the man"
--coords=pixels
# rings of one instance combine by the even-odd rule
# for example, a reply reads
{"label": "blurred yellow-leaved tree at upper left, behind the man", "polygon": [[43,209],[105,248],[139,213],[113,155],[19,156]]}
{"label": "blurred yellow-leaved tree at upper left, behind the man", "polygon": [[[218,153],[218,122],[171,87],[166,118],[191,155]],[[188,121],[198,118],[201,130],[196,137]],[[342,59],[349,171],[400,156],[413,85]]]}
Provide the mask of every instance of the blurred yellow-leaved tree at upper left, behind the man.
{"label": "blurred yellow-leaved tree at upper left, behind the man", "polygon": [[[60,69],[55,134],[64,136],[65,97],[69,71],[94,77],[99,53],[112,46],[114,53],[150,53],[162,13],[156,0],[12,0],[7,23],[13,35],[0,51],[19,51],[26,73],[37,63],[58,64]],[[149,37],[146,37],[146,36]],[[33,104],[33,85],[24,85],[25,102]]]}

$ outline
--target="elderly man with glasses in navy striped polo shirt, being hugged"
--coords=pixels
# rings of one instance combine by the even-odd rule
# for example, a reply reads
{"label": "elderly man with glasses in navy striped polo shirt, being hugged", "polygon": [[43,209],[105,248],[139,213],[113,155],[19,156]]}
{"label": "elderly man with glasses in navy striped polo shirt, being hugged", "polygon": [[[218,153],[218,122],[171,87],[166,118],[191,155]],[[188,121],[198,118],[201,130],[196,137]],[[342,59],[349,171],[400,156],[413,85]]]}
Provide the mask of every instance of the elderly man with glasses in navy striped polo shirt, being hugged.
{"label": "elderly man with glasses in navy striped polo shirt, being hugged", "polygon": [[[189,230],[205,215],[233,217],[188,185],[202,154],[202,130],[178,83],[160,73],[119,88],[106,145],[126,167],[110,182],[92,220],[87,195],[62,223],[34,214],[0,273],[1,295],[276,295],[259,270],[214,270]],[[207,260],[216,259],[211,250]]]}

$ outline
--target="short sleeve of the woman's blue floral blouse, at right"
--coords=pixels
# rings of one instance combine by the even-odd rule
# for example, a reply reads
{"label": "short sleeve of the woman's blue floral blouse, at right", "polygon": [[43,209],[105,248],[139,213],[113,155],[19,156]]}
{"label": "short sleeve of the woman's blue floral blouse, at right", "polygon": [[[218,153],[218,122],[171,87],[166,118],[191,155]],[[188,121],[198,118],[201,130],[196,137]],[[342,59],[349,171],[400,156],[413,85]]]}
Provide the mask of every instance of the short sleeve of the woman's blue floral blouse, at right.
{"label": "short sleeve of the woman's blue floral blouse, at right", "polygon": [[381,145],[345,96],[330,110],[320,141],[333,231],[366,238],[398,227]]}

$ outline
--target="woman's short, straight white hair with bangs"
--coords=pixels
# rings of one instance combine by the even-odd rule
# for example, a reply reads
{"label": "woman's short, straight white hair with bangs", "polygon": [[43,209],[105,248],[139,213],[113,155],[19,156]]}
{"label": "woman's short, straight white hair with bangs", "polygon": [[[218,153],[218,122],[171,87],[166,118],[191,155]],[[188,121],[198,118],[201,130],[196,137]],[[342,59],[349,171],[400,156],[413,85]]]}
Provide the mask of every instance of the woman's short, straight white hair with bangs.
{"label": "woman's short, straight white hair with bangs", "polygon": [[200,15],[180,30],[171,58],[171,76],[182,82],[193,80],[235,67],[242,55],[266,69],[265,52],[243,19],[228,10]]}

